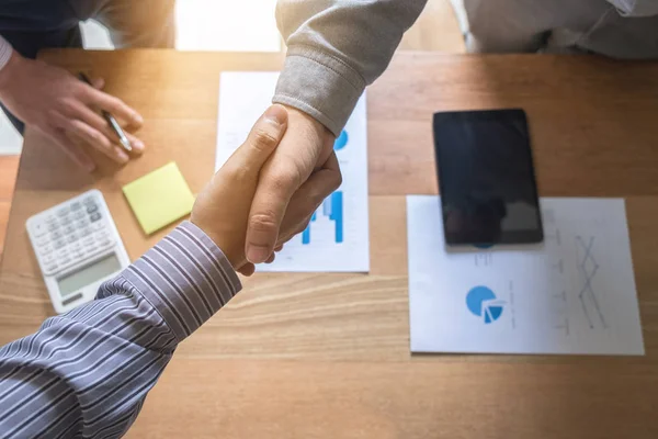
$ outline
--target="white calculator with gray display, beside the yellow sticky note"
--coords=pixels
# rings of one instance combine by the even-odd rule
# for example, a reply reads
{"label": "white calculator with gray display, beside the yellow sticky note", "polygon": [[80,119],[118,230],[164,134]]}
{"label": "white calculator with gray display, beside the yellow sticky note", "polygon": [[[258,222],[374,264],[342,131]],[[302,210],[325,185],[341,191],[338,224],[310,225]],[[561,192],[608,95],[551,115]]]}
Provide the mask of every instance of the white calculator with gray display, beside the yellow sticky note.
{"label": "white calculator with gray display, beside the yellow sticky note", "polygon": [[57,313],[93,300],[101,283],[131,263],[98,190],[30,217],[26,226]]}

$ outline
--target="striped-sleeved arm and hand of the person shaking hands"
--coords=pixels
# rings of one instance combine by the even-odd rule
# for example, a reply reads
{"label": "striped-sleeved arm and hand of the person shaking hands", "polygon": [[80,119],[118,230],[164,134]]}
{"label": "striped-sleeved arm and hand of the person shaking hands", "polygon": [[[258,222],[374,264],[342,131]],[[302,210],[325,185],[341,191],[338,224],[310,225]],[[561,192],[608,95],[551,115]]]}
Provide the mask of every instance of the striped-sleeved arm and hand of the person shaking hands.
{"label": "striped-sleeved arm and hand of the person shaking hands", "polygon": [[[236,270],[253,272],[247,216],[286,127],[284,108],[270,108],[200,193],[189,222],[105,282],[94,302],[0,349],[0,437],[125,434],[177,346],[238,293]],[[279,241],[299,232],[308,201],[319,205],[339,184],[330,155],[293,198]]]}

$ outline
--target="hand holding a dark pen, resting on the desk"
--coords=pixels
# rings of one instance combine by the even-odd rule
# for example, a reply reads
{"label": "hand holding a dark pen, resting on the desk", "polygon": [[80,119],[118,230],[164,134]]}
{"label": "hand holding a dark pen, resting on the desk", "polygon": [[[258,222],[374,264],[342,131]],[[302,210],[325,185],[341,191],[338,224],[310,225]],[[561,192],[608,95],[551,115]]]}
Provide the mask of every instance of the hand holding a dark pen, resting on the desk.
{"label": "hand holding a dark pen, resting on the desk", "polygon": [[[27,126],[38,130],[64,149],[78,165],[92,171],[95,164],[84,151],[92,147],[118,164],[129,160],[118,146],[116,134],[99,114],[105,110],[122,125],[139,128],[141,116],[124,102],[103,93],[102,80],[94,87],[73,75],[14,52],[0,70],[0,101]],[[133,150],[140,154],[144,143],[126,133]]]}

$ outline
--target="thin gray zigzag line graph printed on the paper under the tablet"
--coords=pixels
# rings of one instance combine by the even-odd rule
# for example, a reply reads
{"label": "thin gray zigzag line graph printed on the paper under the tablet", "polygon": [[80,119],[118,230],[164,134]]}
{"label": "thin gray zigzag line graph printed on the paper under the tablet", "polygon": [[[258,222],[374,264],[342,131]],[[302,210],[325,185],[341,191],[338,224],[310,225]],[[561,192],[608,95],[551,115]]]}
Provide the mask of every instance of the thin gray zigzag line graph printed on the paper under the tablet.
{"label": "thin gray zigzag line graph printed on the paper under the tablet", "polygon": [[585,317],[592,329],[594,328],[594,322],[597,322],[597,324],[600,323],[603,328],[608,328],[599,300],[592,288],[592,280],[599,272],[600,267],[593,254],[594,241],[595,239],[593,236],[589,237],[589,239],[585,239],[582,236],[576,236],[578,273],[582,281],[582,286],[578,292],[578,300],[580,301]]}

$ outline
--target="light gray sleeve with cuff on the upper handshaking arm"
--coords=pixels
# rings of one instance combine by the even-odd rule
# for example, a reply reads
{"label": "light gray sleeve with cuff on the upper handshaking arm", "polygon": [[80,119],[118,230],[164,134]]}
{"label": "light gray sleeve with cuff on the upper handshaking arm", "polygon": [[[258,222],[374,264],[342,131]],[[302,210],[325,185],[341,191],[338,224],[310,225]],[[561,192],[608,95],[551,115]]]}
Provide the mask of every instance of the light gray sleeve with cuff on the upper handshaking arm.
{"label": "light gray sleeve with cuff on the upper handshaking arm", "polygon": [[306,112],[338,135],[426,2],[279,0],[276,22],[288,50],[273,102]]}

